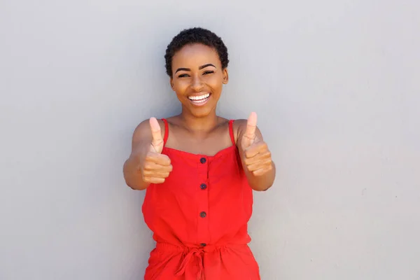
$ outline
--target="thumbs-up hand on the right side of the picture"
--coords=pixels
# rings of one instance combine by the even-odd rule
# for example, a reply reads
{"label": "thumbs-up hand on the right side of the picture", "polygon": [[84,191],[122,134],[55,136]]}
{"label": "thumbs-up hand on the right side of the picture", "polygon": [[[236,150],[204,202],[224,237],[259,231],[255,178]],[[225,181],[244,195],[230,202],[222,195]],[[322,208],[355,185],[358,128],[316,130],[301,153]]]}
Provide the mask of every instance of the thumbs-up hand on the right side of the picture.
{"label": "thumbs-up hand on the right side of the picture", "polygon": [[241,158],[248,172],[254,176],[262,176],[272,170],[271,153],[260,132],[257,133],[257,114],[251,113],[246,123],[246,130],[242,135]]}

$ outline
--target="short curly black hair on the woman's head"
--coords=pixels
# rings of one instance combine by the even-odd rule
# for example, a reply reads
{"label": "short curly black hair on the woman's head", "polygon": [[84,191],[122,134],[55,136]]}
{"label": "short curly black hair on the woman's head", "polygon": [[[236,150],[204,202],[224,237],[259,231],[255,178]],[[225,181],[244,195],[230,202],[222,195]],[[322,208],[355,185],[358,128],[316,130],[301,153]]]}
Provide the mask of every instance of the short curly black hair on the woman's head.
{"label": "short curly black hair on the woman's head", "polygon": [[222,69],[228,67],[228,48],[226,48],[222,38],[207,29],[201,27],[193,27],[190,29],[184,29],[183,31],[179,32],[178,35],[172,38],[171,43],[169,43],[167,46],[165,53],[165,66],[169,77],[172,78],[172,58],[174,57],[175,53],[181,50],[183,46],[193,43],[201,43],[203,45],[208,45],[209,47],[214,48],[218,53],[219,59],[221,59]]}

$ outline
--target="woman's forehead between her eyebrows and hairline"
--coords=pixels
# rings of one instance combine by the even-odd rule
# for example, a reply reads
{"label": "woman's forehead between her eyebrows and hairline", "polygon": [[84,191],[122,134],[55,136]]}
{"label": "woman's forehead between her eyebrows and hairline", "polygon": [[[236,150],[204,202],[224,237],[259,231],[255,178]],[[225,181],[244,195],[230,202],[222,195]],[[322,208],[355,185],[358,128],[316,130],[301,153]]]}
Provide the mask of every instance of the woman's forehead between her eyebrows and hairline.
{"label": "woman's forehead between her eyebrows and hairline", "polygon": [[196,69],[204,64],[211,63],[221,67],[221,59],[214,48],[200,43],[184,45],[172,57],[172,70],[179,67]]}

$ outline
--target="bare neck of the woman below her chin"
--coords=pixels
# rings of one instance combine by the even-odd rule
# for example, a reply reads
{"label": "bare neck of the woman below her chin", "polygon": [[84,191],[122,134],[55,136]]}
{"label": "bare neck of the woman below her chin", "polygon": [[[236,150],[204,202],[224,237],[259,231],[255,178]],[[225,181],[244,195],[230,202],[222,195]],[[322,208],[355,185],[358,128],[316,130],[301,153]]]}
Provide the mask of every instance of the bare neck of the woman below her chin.
{"label": "bare neck of the woman below her chin", "polygon": [[204,117],[196,117],[183,110],[181,113],[181,120],[188,130],[191,132],[209,132],[214,130],[218,125],[218,116],[216,116],[216,109],[211,111],[209,115]]}

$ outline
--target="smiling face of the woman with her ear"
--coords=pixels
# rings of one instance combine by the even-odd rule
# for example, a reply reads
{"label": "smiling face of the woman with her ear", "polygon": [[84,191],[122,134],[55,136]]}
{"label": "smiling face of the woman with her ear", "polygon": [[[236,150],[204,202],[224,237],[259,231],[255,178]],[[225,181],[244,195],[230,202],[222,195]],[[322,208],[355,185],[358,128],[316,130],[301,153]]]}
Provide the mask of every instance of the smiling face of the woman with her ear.
{"label": "smiling face of the woman with her ear", "polygon": [[172,58],[172,90],[193,116],[204,117],[216,111],[228,69],[222,69],[214,48],[202,44],[186,45]]}

